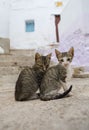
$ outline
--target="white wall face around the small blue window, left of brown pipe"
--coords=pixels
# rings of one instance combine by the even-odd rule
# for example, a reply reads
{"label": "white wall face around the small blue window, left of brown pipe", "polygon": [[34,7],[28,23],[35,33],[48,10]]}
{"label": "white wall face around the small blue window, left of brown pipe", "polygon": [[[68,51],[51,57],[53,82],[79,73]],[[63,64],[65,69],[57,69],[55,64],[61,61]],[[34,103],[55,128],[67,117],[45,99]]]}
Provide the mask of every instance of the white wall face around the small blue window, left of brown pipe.
{"label": "white wall face around the small blue window, left of brown pipe", "polygon": [[[41,13],[42,12],[42,13]],[[12,11],[10,21],[10,39],[12,48],[36,48],[41,44],[55,41],[53,37],[53,21],[44,9],[33,9],[28,11]],[[35,21],[35,31],[25,32],[25,21]],[[47,20],[45,20],[47,19]],[[49,25],[49,26],[48,26]],[[55,35],[55,33],[54,33]]]}

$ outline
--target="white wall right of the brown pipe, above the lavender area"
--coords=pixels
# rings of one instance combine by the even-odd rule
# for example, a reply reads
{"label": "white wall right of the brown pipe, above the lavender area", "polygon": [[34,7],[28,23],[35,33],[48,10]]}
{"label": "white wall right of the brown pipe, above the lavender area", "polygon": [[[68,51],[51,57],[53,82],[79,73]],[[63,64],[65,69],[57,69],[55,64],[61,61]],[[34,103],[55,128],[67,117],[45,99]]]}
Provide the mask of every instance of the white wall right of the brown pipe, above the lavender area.
{"label": "white wall right of the brown pipe, above the lavender area", "polygon": [[82,0],[70,0],[61,13],[60,36],[69,35],[75,29],[82,28],[82,16]]}

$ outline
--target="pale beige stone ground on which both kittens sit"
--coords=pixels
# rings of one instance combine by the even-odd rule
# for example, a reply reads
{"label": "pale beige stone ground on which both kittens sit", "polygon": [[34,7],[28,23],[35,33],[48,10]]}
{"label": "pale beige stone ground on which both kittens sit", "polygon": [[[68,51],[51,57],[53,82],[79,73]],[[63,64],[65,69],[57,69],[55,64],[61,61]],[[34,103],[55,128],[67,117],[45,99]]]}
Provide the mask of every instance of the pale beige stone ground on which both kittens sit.
{"label": "pale beige stone ground on which both kittens sit", "polygon": [[68,98],[16,102],[18,65],[32,62],[20,55],[0,56],[0,130],[89,130],[89,78],[73,78]]}

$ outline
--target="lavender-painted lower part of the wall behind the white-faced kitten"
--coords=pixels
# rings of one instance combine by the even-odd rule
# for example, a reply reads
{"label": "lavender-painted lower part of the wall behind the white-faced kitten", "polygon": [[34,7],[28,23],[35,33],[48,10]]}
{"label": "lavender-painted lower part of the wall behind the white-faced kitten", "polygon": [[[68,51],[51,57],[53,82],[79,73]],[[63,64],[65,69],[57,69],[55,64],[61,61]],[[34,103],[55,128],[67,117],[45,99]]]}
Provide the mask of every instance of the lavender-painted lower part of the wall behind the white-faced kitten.
{"label": "lavender-painted lower part of the wall behind the white-faced kitten", "polygon": [[74,66],[89,66],[89,35],[83,34],[80,29],[74,31],[67,37],[64,36],[60,40],[57,47],[38,48],[37,51],[41,54],[48,54],[52,52],[52,61],[58,62],[55,56],[55,48],[61,52],[68,51],[70,47],[74,47],[74,59],[72,65]]}

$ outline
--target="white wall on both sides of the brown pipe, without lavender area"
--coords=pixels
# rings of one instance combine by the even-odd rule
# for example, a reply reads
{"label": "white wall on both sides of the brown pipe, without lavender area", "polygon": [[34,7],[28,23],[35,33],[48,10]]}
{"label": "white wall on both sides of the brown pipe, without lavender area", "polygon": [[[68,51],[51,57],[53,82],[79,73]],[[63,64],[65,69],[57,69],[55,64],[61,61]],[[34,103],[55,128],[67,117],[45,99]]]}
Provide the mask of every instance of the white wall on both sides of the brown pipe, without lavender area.
{"label": "white wall on both sides of the brown pipe, without lavender area", "polygon": [[[10,37],[11,48],[31,48],[55,42],[53,8],[57,0],[0,0],[0,37]],[[66,0],[63,0],[66,1]],[[89,32],[89,0],[69,0],[61,13],[60,39],[77,28]],[[9,15],[10,14],[10,15]],[[35,32],[25,32],[25,20],[34,19]],[[23,44],[22,44],[23,43]]]}

